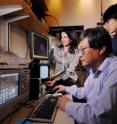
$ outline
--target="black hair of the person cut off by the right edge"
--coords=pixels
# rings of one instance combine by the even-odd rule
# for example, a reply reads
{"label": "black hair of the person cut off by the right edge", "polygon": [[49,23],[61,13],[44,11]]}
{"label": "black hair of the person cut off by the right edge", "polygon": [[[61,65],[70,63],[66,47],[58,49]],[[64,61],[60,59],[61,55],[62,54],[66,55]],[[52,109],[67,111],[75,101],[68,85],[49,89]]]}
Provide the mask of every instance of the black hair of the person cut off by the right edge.
{"label": "black hair of the person cut off by the right edge", "polygon": [[107,10],[104,12],[103,21],[104,23],[107,22],[109,19],[117,19],[117,4],[111,5]]}

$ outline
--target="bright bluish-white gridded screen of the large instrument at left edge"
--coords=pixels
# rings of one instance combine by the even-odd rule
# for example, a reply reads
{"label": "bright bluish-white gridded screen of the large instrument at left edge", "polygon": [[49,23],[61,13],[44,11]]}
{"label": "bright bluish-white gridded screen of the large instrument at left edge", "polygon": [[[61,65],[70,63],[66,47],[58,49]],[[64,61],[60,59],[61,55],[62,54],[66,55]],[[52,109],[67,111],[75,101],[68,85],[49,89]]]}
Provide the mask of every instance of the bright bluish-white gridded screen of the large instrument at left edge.
{"label": "bright bluish-white gridded screen of the large instrument at left edge", "polygon": [[0,75],[0,105],[18,96],[19,74]]}

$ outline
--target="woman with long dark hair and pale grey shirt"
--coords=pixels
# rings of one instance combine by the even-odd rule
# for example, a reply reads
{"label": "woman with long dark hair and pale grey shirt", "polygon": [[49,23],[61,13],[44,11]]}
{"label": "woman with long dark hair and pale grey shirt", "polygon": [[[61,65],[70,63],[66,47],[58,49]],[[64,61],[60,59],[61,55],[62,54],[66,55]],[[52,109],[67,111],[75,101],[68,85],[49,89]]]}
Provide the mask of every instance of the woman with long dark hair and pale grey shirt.
{"label": "woman with long dark hair and pale grey shirt", "polygon": [[73,33],[63,30],[60,33],[59,44],[53,47],[50,64],[55,65],[55,73],[61,71],[63,73],[47,82],[50,88],[59,84],[71,86],[78,79],[75,69],[79,63],[79,56],[76,49],[76,37],[73,36]]}

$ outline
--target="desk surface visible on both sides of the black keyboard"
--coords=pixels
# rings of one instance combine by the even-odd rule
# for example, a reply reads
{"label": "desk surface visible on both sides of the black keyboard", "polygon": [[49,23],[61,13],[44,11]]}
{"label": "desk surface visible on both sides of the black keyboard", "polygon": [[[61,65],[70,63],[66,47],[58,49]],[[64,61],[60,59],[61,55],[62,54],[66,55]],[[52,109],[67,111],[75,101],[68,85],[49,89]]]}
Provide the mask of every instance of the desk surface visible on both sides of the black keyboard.
{"label": "desk surface visible on both sides of the black keyboard", "polygon": [[[33,100],[33,101],[29,101],[28,103],[30,105],[36,106],[37,101]],[[32,109],[33,108],[26,108],[26,106],[21,107],[16,112],[11,114],[2,124],[16,124],[17,121],[26,118],[28,114],[32,111]],[[69,117],[65,112],[58,109],[54,124],[63,124],[63,123],[74,124],[74,120],[71,117]],[[33,123],[33,124],[37,124],[37,123]]]}

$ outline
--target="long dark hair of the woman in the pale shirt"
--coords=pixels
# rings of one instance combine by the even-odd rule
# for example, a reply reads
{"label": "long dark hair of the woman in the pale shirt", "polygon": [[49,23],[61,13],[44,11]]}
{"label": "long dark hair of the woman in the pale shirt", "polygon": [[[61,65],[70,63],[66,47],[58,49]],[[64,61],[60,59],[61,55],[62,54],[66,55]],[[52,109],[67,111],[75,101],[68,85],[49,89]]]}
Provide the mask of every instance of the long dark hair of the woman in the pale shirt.
{"label": "long dark hair of the woman in the pale shirt", "polygon": [[[70,42],[70,48],[69,48],[69,52],[70,53],[75,53],[75,49],[77,48],[77,36],[75,35],[75,32],[73,31],[69,31],[69,30],[66,30],[66,29],[63,29],[59,34],[59,40],[61,41],[61,33],[62,32],[65,32],[68,36],[68,38],[71,40]],[[59,48],[63,48],[63,44],[59,44],[58,46]]]}

